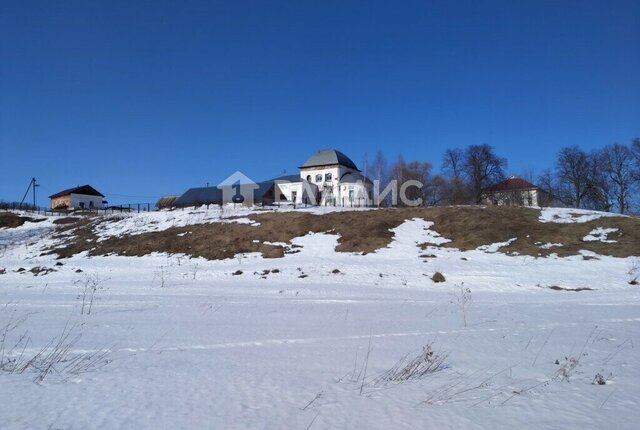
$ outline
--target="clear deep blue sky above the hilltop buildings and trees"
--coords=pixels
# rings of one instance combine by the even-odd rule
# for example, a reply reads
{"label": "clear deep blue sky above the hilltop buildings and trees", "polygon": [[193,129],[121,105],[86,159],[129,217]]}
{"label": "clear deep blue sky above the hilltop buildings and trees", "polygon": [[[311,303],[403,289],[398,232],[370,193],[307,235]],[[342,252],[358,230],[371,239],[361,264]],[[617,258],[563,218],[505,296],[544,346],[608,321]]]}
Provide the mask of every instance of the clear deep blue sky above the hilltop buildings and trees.
{"label": "clear deep blue sky above the hilltop buildings and trees", "polygon": [[638,1],[0,3],[0,199],[154,201],[334,147],[510,173],[640,136]]}

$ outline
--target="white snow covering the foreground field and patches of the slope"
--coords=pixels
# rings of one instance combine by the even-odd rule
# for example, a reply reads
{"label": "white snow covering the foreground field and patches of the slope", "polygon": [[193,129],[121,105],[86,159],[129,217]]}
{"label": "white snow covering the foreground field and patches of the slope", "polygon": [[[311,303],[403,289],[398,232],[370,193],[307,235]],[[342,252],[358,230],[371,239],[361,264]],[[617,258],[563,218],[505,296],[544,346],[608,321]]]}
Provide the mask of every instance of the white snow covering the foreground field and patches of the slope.
{"label": "white snow covering the foreground field and patches of the slope", "polygon": [[[227,215],[131,214],[100,237]],[[541,220],[598,216],[550,209]],[[635,429],[640,420],[637,257],[506,256],[494,244],[461,252],[411,219],[367,255],[336,253],[337,236],[316,233],[281,259],[77,255],[56,266],[40,256],[51,221],[0,229],[0,429]],[[416,246],[425,242],[433,247]],[[433,282],[436,272],[446,281]],[[60,360],[38,355],[56,345],[68,347]],[[420,366],[395,366],[423,348]],[[431,363],[440,366],[418,375]]]}

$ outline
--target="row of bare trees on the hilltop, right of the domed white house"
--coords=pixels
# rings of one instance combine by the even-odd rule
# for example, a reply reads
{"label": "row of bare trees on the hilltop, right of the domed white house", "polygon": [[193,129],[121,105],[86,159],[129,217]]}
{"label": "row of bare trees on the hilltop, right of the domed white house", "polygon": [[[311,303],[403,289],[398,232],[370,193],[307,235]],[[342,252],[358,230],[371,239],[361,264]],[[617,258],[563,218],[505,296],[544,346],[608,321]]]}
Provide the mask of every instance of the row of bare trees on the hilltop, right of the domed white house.
{"label": "row of bare trees on the hilltop, right of the domed white house", "polygon": [[[407,189],[410,199],[425,205],[480,204],[485,190],[506,178],[508,162],[487,144],[447,149],[440,170],[427,161],[406,161],[402,156],[388,163],[381,151],[372,160],[365,156],[363,173],[380,181],[419,181],[422,188]],[[629,144],[614,143],[587,152],[578,146],[562,148],[553,168],[538,176],[532,171],[520,177],[535,184],[547,196],[547,204],[620,213],[640,207],[640,138]]]}

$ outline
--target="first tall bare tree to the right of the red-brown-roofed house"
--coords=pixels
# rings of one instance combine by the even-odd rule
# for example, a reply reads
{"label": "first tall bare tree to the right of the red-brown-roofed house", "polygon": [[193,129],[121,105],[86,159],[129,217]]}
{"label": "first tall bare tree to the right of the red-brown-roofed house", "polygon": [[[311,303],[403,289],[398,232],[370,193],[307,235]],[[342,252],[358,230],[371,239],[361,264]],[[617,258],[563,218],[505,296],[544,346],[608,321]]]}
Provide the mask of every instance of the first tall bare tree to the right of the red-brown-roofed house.
{"label": "first tall bare tree to the right of the red-brown-roofed house", "polygon": [[577,146],[560,150],[556,161],[558,197],[563,203],[579,208],[589,192],[589,156]]}

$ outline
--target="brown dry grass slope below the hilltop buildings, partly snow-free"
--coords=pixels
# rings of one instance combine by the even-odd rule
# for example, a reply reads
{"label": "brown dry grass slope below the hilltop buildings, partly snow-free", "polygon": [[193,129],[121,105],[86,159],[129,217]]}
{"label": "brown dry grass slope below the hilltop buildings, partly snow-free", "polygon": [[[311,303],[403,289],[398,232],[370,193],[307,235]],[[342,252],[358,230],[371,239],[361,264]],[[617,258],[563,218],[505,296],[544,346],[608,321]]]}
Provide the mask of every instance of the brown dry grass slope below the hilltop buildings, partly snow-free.
{"label": "brown dry grass slope below the hilltop buildings, partly snow-free", "polygon": [[[180,213],[177,213],[180,216]],[[188,216],[188,213],[184,213]],[[267,258],[295,252],[291,240],[309,232],[340,235],[336,251],[370,253],[391,242],[390,229],[405,220],[431,221],[432,230],[451,240],[442,246],[470,250],[508,242],[499,247],[507,254],[546,256],[576,255],[588,250],[600,255],[640,255],[640,219],[602,217],[588,222],[541,222],[540,210],[516,207],[438,207],[381,209],[325,214],[264,212],[248,215],[244,223],[210,222],[140,234],[122,234],[98,240],[97,231],[117,219],[59,220],[57,235],[66,238],[52,253],[69,257],[90,255],[146,255],[153,252],[183,253],[211,260],[232,258],[238,253],[260,252]],[[140,220],[142,221],[142,220]],[[231,221],[231,222],[229,222]],[[144,221],[142,221],[144,222]],[[144,227],[144,226],[141,226]],[[594,229],[610,230],[606,241],[583,240]],[[558,246],[561,244],[561,246]]]}

